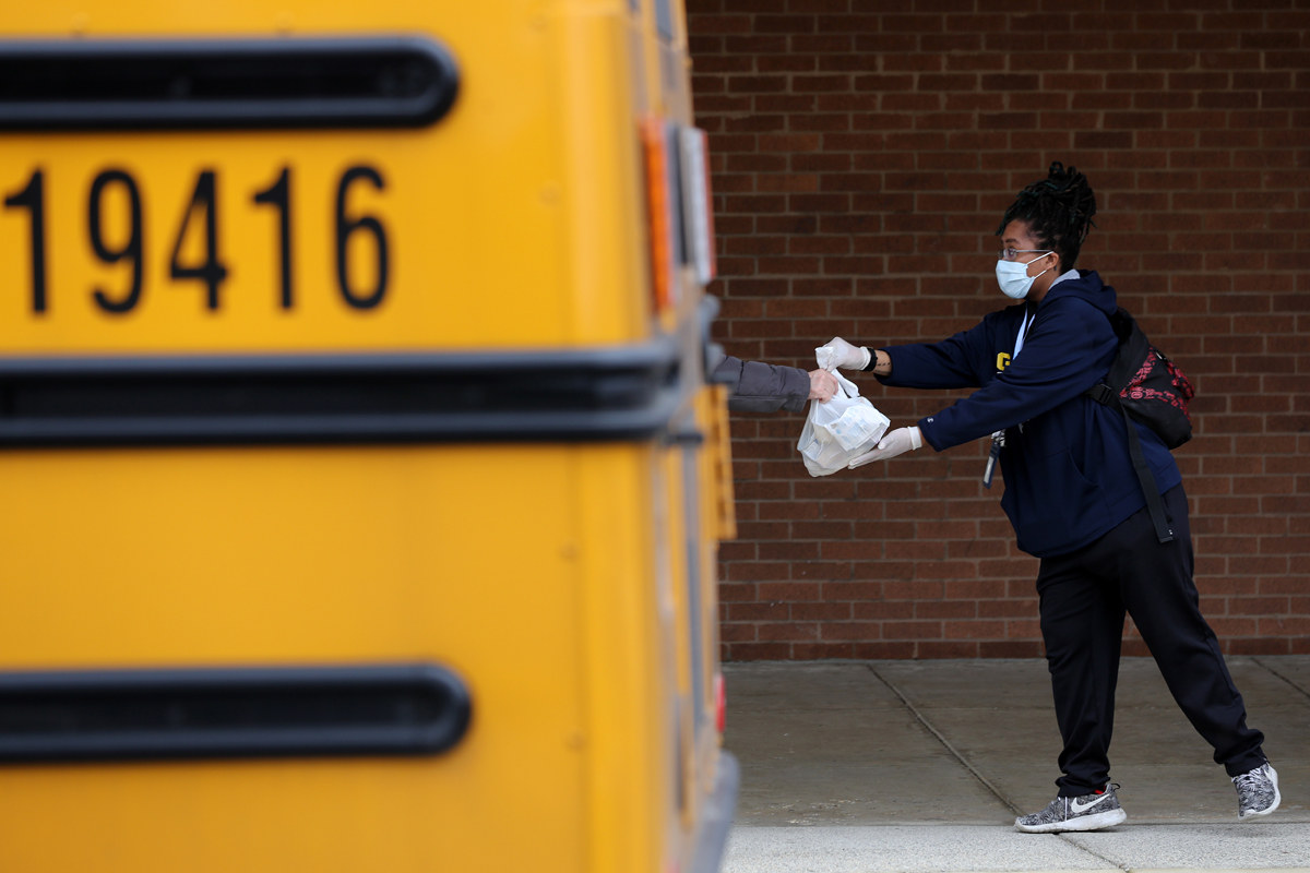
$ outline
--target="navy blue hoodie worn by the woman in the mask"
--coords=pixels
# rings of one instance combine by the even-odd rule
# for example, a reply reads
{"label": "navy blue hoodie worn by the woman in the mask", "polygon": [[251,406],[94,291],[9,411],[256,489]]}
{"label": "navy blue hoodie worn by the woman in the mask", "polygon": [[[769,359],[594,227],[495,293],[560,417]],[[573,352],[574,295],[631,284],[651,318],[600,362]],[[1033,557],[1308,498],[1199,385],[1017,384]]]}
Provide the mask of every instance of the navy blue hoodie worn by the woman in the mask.
{"label": "navy blue hoodie worn by the woman in the mask", "polygon": [[[1115,357],[1115,289],[1091,271],[1052,285],[1014,356],[1028,312],[1030,302],[1007,306],[941,343],[886,348],[892,374],[879,381],[980,389],[922,419],[924,440],[942,452],[1005,429],[1001,508],[1019,548],[1049,558],[1096,539],[1145,507],[1146,497],[1133,472],[1123,418],[1083,395],[1106,377]],[[1165,493],[1182,482],[1178,465],[1150,428],[1133,424]]]}

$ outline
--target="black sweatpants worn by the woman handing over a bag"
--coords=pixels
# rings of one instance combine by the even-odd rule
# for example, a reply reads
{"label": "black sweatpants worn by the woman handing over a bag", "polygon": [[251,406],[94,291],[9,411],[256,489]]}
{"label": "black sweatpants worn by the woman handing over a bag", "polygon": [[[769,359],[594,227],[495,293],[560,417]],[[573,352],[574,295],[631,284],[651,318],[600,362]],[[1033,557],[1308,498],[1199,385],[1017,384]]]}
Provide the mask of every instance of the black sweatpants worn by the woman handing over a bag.
{"label": "black sweatpants worn by the woman handing over a bag", "polygon": [[1144,508],[1100,539],[1041,559],[1041,637],[1064,739],[1061,797],[1096,791],[1110,777],[1125,609],[1178,705],[1214,747],[1216,763],[1229,776],[1264,763],[1264,736],[1246,726],[1242,695],[1201,616],[1183,486],[1163,499],[1172,542],[1159,542]]}

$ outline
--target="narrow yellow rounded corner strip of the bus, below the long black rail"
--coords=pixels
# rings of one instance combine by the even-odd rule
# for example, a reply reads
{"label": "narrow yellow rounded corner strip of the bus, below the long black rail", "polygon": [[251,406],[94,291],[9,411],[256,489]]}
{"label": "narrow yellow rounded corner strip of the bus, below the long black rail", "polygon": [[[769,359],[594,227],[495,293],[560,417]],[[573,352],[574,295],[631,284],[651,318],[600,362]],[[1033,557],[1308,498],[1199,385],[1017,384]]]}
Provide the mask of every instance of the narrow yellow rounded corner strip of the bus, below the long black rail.
{"label": "narrow yellow rounded corner strip of the bus, below the long black rail", "polygon": [[673,797],[672,606],[656,445],[578,454],[587,842],[593,873],[663,873]]}

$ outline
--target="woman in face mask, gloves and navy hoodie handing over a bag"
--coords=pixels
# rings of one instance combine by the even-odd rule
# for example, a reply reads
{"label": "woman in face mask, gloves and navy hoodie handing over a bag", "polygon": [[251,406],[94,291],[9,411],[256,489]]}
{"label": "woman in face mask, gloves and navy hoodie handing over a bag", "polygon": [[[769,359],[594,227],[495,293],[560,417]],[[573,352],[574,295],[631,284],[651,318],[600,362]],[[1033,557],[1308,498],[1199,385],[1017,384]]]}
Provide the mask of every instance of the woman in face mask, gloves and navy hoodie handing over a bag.
{"label": "woman in face mask, gloves and navy hoodie handing over a bag", "polygon": [[[1117,349],[1115,291],[1074,270],[1095,195],[1074,168],[1052,164],[1019,192],[997,236],[1001,291],[1022,305],[990,313],[941,343],[870,352],[834,338],[838,366],[883,385],[979,389],[916,425],[889,432],[858,467],[922,446],[942,452],[992,435],[1005,476],[1001,507],[1019,548],[1041,559],[1041,635],[1064,739],[1058,796],[1015,821],[1020,831],[1087,831],[1127,815],[1110,781],[1110,738],[1124,613],[1150,647],[1174,699],[1237,787],[1238,818],[1272,813],[1277,774],[1213,631],[1197,607],[1187,496],[1161,438],[1133,421],[1174,531],[1159,542],[1132,466],[1124,419],[1083,391]],[[990,465],[988,466],[988,475]]]}

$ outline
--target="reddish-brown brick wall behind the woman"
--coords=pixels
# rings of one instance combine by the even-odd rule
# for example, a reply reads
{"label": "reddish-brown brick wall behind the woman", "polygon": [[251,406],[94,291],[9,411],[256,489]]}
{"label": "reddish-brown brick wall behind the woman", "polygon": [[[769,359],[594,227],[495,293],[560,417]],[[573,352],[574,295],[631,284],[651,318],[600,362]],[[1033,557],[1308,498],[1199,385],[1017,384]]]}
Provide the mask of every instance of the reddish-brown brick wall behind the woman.
{"label": "reddish-brown brick wall behind the woman", "polygon": [[[1227,652],[1310,652],[1310,1],[688,10],[728,351],[810,369],[834,334],[973,326],[1005,304],[1005,207],[1077,165],[1100,209],[1078,266],[1199,390],[1175,455],[1203,610]],[[951,402],[861,386],[893,425]],[[802,424],[734,420],[726,658],[1041,652],[1036,561],[981,487],[981,442],[811,479]]]}

